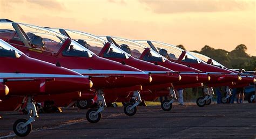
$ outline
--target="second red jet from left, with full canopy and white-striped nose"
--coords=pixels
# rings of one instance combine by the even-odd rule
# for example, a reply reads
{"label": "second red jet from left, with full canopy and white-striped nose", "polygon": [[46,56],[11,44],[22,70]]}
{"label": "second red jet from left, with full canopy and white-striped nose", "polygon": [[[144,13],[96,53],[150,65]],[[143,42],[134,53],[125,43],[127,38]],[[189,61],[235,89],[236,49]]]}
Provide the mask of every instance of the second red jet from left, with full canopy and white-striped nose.
{"label": "second red jet from left, with full canopy and white-striped nose", "polygon": [[[138,90],[141,85],[152,81],[145,72],[99,57],[76,41],[46,28],[10,22],[2,22],[0,25],[0,38],[26,55],[89,76],[97,92],[99,107],[87,111],[86,118],[91,123],[98,122],[102,117],[101,112],[106,106],[103,90],[113,100],[134,91],[133,97],[140,100]],[[118,91],[113,92],[113,89]],[[137,111],[136,104],[131,106],[134,113]]]}

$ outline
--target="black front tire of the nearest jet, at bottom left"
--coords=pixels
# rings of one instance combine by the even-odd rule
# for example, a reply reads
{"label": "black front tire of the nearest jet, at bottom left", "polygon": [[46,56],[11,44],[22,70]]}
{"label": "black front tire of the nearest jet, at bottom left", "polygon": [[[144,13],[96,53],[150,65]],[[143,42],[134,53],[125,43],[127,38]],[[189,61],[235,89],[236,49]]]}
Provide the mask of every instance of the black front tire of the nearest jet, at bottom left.
{"label": "black front tire of the nearest jet, at bottom left", "polygon": [[28,120],[26,119],[18,119],[17,121],[15,121],[13,129],[14,129],[14,133],[17,136],[20,137],[24,137],[30,134],[31,130],[32,130],[32,125],[31,123],[26,126],[25,128],[21,128],[21,126]]}

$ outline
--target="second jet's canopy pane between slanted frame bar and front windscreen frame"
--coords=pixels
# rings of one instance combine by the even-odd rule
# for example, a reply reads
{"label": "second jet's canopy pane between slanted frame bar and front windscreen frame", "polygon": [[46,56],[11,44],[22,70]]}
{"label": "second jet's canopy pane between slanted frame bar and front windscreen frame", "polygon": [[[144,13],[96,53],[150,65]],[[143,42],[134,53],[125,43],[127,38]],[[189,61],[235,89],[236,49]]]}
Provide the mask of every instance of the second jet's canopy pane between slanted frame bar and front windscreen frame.
{"label": "second jet's canopy pane between slanted frame bar and front windscreen frame", "polygon": [[43,27],[19,24],[25,34],[28,36],[32,47],[49,51],[52,53],[58,52],[64,43],[66,36],[58,34]]}

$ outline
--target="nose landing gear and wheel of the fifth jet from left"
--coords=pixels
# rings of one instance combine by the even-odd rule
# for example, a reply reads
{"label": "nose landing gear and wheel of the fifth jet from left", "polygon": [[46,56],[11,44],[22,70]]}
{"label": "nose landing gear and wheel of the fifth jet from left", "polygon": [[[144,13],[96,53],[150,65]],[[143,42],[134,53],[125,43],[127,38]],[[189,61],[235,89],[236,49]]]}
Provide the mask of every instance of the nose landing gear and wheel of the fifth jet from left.
{"label": "nose landing gear and wheel of the fifth jet from left", "polygon": [[212,98],[214,96],[214,91],[212,87],[204,87],[204,97],[199,97],[197,99],[197,106],[204,107],[205,105],[210,105],[212,103]]}

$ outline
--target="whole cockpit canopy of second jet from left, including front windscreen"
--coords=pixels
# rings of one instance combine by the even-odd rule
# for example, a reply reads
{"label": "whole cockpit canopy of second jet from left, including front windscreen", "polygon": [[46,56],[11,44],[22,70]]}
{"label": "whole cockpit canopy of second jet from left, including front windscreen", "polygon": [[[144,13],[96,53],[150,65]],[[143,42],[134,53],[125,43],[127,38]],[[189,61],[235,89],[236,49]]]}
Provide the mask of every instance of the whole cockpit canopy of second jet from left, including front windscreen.
{"label": "whole cockpit canopy of second jet from left, including front windscreen", "polygon": [[[49,28],[11,22],[0,22],[0,38],[9,43],[15,43],[16,45],[38,49],[52,54],[57,53],[67,39],[65,35],[51,31]],[[81,40],[78,42],[86,45]],[[78,42],[72,40],[62,54],[64,56],[78,57],[91,57],[94,54]]]}

